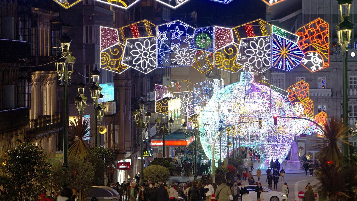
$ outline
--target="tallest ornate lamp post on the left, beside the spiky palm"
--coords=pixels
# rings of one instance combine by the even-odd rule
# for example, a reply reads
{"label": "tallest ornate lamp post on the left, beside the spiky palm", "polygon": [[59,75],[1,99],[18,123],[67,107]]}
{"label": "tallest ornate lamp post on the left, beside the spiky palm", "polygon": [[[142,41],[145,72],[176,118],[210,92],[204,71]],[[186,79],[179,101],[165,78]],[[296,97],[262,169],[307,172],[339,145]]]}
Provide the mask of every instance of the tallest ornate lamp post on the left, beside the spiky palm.
{"label": "tallest ornate lamp post on the left, beside the spiky palm", "polygon": [[68,111],[67,111],[67,85],[70,83],[75,57],[69,52],[71,38],[64,33],[60,38],[61,52],[56,57],[56,73],[59,77],[60,84],[63,85],[63,166],[68,167]]}

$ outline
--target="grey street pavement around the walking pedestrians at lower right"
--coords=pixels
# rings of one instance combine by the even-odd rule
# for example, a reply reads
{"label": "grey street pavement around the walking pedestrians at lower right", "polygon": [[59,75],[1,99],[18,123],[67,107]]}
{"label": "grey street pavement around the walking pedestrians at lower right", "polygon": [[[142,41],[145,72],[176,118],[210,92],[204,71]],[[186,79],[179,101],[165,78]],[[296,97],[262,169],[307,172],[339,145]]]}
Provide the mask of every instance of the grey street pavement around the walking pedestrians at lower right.
{"label": "grey street pavement around the walking pedestrians at lower right", "polygon": [[[256,170],[253,171],[253,178],[255,181],[258,181],[258,178],[256,176]],[[268,187],[268,182],[266,182],[266,178],[267,178],[266,170],[262,170],[262,176],[260,177],[260,182],[262,183],[262,186]],[[306,176],[305,172],[303,172],[302,170],[295,170],[295,171],[286,171],[284,182],[288,184],[289,191],[290,191],[288,201],[295,201],[295,196],[297,196],[299,191],[304,191],[304,192],[306,191],[305,187],[308,182],[310,182],[310,184],[314,186],[317,185],[318,180],[316,179],[315,175],[309,176],[309,173],[307,172],[307,176]],[[244,181],[243,178],[242,183],[247,185],[248,180]],[[282,192],[283,185],[284,183],[281,181],[281,177],[279,177],[278,190],[274,190],[274,189],[272,190]],[[315,191],[316,187],[313,188],[313,190]],[[297,201],[299,201],[299,199],[297,199]]]}

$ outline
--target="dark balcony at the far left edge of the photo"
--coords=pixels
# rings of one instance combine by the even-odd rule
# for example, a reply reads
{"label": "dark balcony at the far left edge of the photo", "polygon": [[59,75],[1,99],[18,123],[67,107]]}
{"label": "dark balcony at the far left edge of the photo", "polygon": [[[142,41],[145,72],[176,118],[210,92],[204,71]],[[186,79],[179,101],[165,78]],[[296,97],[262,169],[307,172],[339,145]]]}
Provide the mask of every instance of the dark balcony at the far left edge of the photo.
{"label": "dark balcony at the far left edge of the photo", "polygon": [[21,107],[0,111],[0,133],[20,129],[29,124],[30,108]]}

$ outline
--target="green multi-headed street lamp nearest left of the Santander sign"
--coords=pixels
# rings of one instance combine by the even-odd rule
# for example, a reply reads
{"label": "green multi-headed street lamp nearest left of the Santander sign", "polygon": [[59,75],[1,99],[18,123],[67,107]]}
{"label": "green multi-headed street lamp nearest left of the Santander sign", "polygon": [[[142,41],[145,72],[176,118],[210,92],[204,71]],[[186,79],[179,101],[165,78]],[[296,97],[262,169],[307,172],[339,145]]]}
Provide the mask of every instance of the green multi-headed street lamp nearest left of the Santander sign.
{"label": "green multi-headed street lamp nearest left of the Santander sign", "polygon": [[136,109],[134,111],[134,121],[136,123],[136,126],[140,128],[141,132],[141,142],[140,142],[140,158],[141,158],[141,172],[140,172],[140,185],[144,186],[144,129],[145,131],[147,130],[147,127],[149,126],[150,123],[150,116],[151,112],[148,109],[145,113],[145,101],[141,98],[139,101],[139,109]]}

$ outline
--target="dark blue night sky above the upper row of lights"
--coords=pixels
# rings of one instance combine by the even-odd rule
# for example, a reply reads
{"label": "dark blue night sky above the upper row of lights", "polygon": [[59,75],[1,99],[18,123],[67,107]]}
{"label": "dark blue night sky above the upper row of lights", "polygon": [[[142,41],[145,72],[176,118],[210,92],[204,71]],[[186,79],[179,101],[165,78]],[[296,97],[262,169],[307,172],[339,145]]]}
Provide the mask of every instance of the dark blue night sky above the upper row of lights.
{"label": "dark blue night sky above the upper row of lights", "polygon": [[197,25],[233,27],[248,21],[265,20],[266,4],[261,0],[233,0],[229,4],[210,0],[190,0],[176,9],[176,12],[197,11]]}

